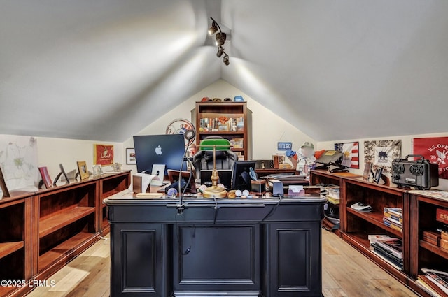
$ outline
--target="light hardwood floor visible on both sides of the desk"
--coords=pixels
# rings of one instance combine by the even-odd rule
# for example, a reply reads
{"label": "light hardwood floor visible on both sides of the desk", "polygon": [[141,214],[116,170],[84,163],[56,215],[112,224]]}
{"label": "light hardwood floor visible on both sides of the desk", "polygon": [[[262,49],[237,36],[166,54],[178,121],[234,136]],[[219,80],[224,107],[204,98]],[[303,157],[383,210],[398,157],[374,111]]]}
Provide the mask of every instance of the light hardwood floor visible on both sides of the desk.
{"label": "light hardwood floor visible on both sides of the desk", "polygon": [[[416,296],[334,233],[322,230],[323,296]],[[39,287],[28,297],[108,297],[109,245],[100,240],[52,275],[55,287]]]}

